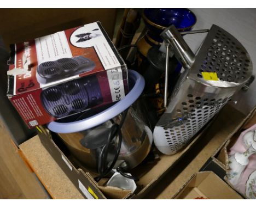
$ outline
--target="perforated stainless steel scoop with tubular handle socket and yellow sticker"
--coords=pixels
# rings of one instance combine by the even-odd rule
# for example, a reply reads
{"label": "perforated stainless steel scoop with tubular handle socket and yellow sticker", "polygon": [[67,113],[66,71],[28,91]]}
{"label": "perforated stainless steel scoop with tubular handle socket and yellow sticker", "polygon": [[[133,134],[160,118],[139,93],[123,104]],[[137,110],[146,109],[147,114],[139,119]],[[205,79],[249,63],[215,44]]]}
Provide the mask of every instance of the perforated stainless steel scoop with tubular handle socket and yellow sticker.
{"label": "perforated stainless steel scoop with tubular handle socket and yellow sticker", "polygon": [[[181,34],[201,32],[208,34],[194,56]],[[182,33],[172,25],[161,37],[185,69],[154,129],[156,147],[171,155],[188,144],[243,87],[252,75],[252,61],[245,47],[216,25]]]}

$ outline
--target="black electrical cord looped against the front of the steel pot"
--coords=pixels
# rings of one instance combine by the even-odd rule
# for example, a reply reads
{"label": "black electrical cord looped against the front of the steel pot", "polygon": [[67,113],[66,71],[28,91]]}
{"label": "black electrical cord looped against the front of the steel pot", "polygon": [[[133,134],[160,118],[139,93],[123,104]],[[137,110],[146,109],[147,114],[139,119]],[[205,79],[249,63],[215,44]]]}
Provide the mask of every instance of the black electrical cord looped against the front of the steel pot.
{"label": "black electrical cord looped against the front of the steel pot", "polygon": [[[109,135],[108,135],[108,138],[107,138],[107,143],[103,146],[103,148],[100,152],[100,155],[98,156],[97,170],[98,170],[98,174],[100,174],[100,175],[95,178],[95,180],[97,182],[100,181],[104,176],[107,176],[112,171],[115,163],[118,160],[119,153],[120,153],[120,150],[121,150],[122,139],[123,139],[123,136],[122,136],[122,133],[121,133],[121,127],[124,124],[127,112],[128,112],[128,109],[126,109],[121,114],[122,118],[121,118],[121,121],[120,121],[119,125],[118,124],[113,124],[112,127],[110,128],[110,132],[109,132]],[[111,120],[111,121],[113,122],[113,120]],[[112,163],[108,166],[108,164],[107,164],[107,155],[108,155],[108,152],[109,152],[109,146],[110,146],[110,143],[112,142],[112,140],[116,136],[118,136],[117,150],[115,151]],[[117,171],[121,175],[125,176],[126,178],[137,180],[137,178],[132,177],[132,176],[127,175],[126,173],[124,173],[124,169],[121,168],[120,166],[117,168]]]}

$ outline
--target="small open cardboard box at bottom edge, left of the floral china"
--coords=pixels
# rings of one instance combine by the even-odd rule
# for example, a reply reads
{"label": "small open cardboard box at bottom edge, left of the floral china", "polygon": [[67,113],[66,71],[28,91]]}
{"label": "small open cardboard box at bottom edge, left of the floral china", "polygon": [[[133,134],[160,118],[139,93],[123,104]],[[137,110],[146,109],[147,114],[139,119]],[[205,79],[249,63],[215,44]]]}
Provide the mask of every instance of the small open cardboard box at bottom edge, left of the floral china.
{"label": "small open cardboard box at bottom edge, left of the floral china", "polygon": [[213,172],[199,172],[185,183],[174,199],[243,199]]}

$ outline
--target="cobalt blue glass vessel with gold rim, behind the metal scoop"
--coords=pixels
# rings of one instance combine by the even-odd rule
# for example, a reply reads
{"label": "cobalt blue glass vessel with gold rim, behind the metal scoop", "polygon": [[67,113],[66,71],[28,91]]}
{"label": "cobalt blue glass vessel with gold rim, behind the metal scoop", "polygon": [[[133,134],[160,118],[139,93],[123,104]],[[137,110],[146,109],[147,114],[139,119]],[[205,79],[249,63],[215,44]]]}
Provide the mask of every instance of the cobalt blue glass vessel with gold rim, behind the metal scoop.
{"label": "cobalt blue glass vessel with gold rim, behind the metal scoop", "polygon": [[143,20],[149,31],[147,35],[155,41],[162,42],[160,33],[171,25],[179,31],[188,31],[196,23],[195,14],[189,9],[144,9]]}

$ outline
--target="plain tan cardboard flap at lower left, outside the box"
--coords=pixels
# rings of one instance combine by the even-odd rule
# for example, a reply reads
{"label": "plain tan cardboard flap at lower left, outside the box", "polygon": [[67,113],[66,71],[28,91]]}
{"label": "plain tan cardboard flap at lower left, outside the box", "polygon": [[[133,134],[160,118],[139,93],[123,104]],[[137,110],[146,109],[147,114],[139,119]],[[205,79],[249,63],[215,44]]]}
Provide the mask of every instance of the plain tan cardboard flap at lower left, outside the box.
{"label": "plain tan cardboard flap at lower left, outside the box", "polygon": [[84,199],[53,157],[42,146],[38,136],[35,136],[19,147],[51,197],[54,199]]}

